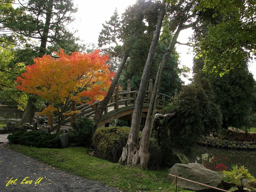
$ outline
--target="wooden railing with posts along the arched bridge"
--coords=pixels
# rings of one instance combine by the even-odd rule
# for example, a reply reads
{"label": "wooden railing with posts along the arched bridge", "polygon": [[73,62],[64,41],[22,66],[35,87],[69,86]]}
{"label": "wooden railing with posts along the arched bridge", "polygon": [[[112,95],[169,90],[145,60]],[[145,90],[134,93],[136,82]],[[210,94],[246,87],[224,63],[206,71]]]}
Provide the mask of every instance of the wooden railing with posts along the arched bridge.
{"label": "wooden railing with posts along the arched bridge", "polygon": [[[149,88],[145,95],[144,107],[147,107],[149,105],[149,102],[152,98],[152,91],[153,91],[152,83],[153,83],[153,81],[152,81],[152,79],[150,79],[149,80]],[[137,90],[136,91],[130,90],[130,80],[128,80],[126,90],[119,90],[119,85],[117,84],[116,88],[114,90],[114,95],[112,95],[109,104],[107,105],[104,113],[102,114],[102,118],[119,111],[119,109],[126,110],[126,109],[134,107],[136,98],[137,98],[137,94],[138,94]],[[171,102],[170,96],[159,93],[159,98],[158,98],[156,107],[164,108],[164,106],[166,106],[170,102]],[[101,104],[101,101],[96,101],[93,103],[93,105],[86,103],[86,104],[82,104],[80,106],[76,106],[76,102],[72,101],[72,103],[70,104],[70,109],[68,111],[66,111],[66,113],[69,113],[71,111],[77,111],[77,110],[80,110],[80,112],[78,114],[74,113],[74,114],[71,114],[68,116],[64,116],[64,118],[62,120],[62,124],[66,123],[68,121],[71,121],[71,123],[72,123],[73,121],[76,121],[77,116],[81,116],[81,115],[86,115],[86,116],[92,118],[93,115],[96,113],[98,107],[100,107],[100,104]],[[48,117],[48,119],[49,119],[49,117]],[[55,124],[53,123],[54,121],[56,122]],[[57,127],[57,117],[53,118],[53,122],[48,121],[48,125],[51,125],[51,123],[52,123],[53,128],[56,128]]]}

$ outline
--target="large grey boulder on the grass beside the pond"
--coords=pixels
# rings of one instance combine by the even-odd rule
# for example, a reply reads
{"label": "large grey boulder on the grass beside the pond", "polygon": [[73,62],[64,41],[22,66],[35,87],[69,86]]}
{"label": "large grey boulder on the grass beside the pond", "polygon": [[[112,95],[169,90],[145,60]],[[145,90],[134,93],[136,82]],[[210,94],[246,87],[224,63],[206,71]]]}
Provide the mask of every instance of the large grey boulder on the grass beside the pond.
{"label": "large grey boulder on the grass beside the pond", "polygon": [[[169,174],[172,174],[172,175],[179,174],[179,177],[182,177],[188,180],[192,180],[198,183],[203,183],[205,185],[210,185],[212,187],[221,187],[222,177],[218,173],[205,168],[201,164],[197,164],[197,163],[190,163],[187,165],[175,164],[169,170],[169,173],[167,175],[167,180],[172,183],[175,178]],[[217,192],[217,190],[213,190],[209,187],[205,187],[205,186],[191,183],[181,179],[178,179],[178,185],[179,187],[182,187],[187,190],[192,190],[192,191],[199,191],[199,192],[216,191]]]}

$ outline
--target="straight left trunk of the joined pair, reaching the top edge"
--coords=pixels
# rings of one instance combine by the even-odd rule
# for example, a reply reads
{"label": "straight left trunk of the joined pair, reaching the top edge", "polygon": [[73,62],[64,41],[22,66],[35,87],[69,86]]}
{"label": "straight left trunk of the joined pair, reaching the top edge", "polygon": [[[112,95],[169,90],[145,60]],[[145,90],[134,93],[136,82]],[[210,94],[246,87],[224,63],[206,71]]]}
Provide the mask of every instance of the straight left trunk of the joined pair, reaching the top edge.
{"label": "straight left trunk of the joined pair, reaching the top edge", "polygon": [[[140,88],[139,88],[139,92],[137,95],[135,108],[134,108],[134,112],[133,112],[133,119],[132,119],[132,123],[131,123],[130,134],[129,134],[128,141],[126,144],[126,147],[128,147],[127,164],[136,165],[137,162],[140,161],[140,159],[138,159],[139,156],[138,155],[135,156],[135,154],[138,151],[138,137],[139,137],[139,131],[140,131],[140,121],[141,121],[141,117],[142,117],[142,108],[143,108],[143,103],[144,103],[144,99],[145,99],[145,94],[147,91],[147,83],[149,81],[149,73],[150,73],[151,65],[152,65],[152,62],[154,59],[154,53],[156,50],[157,42],[159,40],[161,26],[162,26],[162,22],[163,22],[164,15],[165,15],[165,6],[166,6],[166,1],[163,1],[162,5],[161,5],[159,18],[157,21],[156,31],[154,33],[154,37],[153,37],[151,46],[149,48],[149,54],[147,56],[147,61],[146,61],[146,64],[145,64],[145,67],[144,67],[144,70],[142,73]],[[122,160],[120,159],[119,162],[121,162],[121,161]]]}

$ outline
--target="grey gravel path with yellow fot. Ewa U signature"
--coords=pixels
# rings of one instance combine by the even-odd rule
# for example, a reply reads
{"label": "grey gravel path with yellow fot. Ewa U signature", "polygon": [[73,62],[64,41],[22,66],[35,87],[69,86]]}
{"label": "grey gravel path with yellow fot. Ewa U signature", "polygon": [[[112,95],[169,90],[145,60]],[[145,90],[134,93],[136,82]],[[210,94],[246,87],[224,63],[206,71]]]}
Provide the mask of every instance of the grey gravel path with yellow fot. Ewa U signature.
{"label": "grey gravel path with yellow fot. Ewa U signature", "polygon": [[[29,177],[29,178],[26,178]],[[16,184],[9,180],[16,180]],[[40,180],[43,178],[42,180]],[[23,181],[26,179],[25,181]],[[33,180],[32,182],[29,182]],[[38,180],[37,185],[35,185]],[[9,185],[8,185],[9,182]],[[21,184],[21,183],[24,184]],[[26,184],[27,182],[27,184]],[[12,184],[11,184],[12,183]],[[29,184],[31,183],[31,184]],[[8,185],[6,187],[6,185]],[[0,192],[119,192],[14,152],[0,144]]]}

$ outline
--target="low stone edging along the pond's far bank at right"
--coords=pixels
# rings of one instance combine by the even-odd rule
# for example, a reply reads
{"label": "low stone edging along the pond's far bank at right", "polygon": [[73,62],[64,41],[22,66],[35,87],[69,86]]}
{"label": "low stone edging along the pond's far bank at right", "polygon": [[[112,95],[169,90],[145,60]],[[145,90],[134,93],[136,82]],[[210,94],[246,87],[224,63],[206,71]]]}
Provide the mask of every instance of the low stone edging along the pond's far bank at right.
{"label": "low stone edging along the pond's far bank at right", "polygon": [[256,144],[254,142],[241,142],[241,141],[228,141],[213,137],[205,137],[198,140],[199,145],[208,145],[211,147],[222,147],[227,149],[244,149],[244,150],[256,150]]}

